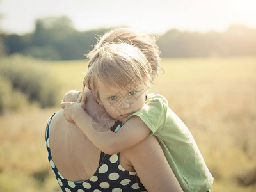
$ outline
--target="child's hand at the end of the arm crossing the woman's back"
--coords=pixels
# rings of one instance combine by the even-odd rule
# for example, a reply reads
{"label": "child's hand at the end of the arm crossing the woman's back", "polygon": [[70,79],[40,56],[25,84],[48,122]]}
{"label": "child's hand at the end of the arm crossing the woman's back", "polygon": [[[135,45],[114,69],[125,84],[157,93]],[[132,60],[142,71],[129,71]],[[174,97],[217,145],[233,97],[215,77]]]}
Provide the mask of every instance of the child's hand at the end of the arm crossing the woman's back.
{"label": "child's hand at the end of the arm crossing the woman's back", "polygon": [[62,102],[61,108],[64,110],[63,115],[65,116],[68,122],[74,122],[74,116],[79,113],[79,110],[85,109],[84,102]]}

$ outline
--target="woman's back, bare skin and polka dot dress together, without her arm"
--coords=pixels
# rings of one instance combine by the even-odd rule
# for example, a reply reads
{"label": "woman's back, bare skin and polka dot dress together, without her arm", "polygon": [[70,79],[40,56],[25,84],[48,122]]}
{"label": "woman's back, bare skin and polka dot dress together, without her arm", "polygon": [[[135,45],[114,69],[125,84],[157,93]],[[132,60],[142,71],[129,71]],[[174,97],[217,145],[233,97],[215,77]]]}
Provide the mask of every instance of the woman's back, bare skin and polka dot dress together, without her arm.
{"label": "woman's back, bare skin and polka dot dress together, without her arm", "polygon": [[[141,190],[136,172],[127,166],[127,152],[122,152],[122,157],[103,154],[76,124],[65,120],[63,111],[49,119],[45,139],[48,160],[62,191]],[[125,170],[120,159],[130,171]]]}

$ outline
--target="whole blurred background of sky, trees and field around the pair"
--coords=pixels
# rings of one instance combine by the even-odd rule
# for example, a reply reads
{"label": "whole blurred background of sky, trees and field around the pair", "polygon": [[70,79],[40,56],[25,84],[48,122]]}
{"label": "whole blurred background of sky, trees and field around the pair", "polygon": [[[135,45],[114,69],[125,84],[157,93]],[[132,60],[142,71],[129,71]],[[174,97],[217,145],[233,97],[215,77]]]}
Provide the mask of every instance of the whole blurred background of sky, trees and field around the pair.
{"label": "whole blurred background of sky, trees and field around the pair", "polygon": [[[0,191],[60,191],[47,119],[80,90],[95,36],[117,27],[158,36],[150,92],[193,134],[211,191],[256,190],[256,2],[0,0]],[[168,84],[168,86],[166,86]]]}

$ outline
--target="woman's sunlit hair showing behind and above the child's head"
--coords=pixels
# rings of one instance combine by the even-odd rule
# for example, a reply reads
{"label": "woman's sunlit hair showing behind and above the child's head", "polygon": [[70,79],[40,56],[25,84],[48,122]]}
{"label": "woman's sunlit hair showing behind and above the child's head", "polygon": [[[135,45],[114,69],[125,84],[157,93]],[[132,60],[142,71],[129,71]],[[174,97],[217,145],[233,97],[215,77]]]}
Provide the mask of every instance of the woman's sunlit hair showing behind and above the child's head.
{"label": "woman's sunlit hair showing behind and above the child's head", "polygon": [[88,59],[90,60],[93,52],[105,44],[119,43],[126,43],[133,45],[134,47],[138,47],[151,65],[152,79],[156,77],[161,60],[159,56],[159,47],[156,44],[156,36],[147,35],[130,28],[118,28],[106,32],[101,38],[99,38],[95,48],[88,54]]}

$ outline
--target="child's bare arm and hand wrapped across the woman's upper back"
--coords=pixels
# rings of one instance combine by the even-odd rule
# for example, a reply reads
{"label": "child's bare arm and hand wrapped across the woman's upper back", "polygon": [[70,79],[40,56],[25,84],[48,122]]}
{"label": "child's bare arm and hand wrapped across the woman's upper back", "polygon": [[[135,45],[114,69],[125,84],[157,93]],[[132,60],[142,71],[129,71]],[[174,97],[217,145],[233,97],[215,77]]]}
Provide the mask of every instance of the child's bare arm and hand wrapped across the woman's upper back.
{"label": "child's bare arm and hand wrapped across the woman's upper back", "polygon": [[84,103],[63,102],[61,107],[65,111],[66,119],[74,121],[93,145],[106,154],[116,154],[132,147],[151,132],[138,116],[131,118],[122,129],[114,133],[106,126],[92,122],[92,117],[84,111]]}

